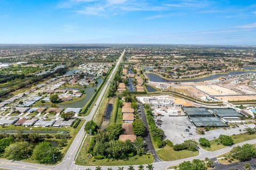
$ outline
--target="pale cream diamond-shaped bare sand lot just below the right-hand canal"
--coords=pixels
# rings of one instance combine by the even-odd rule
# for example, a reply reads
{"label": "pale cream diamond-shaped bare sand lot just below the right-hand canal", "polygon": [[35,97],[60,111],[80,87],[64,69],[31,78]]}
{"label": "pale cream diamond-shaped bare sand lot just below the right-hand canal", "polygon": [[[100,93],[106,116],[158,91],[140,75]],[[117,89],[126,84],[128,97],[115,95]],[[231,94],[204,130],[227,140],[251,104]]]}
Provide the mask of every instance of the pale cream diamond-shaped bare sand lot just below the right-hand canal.
{"label": "pale cream diamond-shaped bare sand lot just below the right-hand canal", "polygon": [[208,86],[196,86],[197,89],[206,92],[209,95],[237,95],[238,92],[231,90],[229,88],[221,87],[218,85],[208,85]]}

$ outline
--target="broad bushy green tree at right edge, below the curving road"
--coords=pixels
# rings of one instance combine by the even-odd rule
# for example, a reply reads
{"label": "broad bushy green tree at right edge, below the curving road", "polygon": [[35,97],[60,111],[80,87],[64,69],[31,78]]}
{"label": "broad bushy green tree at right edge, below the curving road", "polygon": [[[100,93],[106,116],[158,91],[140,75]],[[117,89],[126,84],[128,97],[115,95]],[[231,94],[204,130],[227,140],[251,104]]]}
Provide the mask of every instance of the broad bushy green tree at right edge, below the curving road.
{"label": "broad bushy green tree at right edge, below the curving road", "polygon": [[238,146],[231,150],[232,157],[239,161],[250,160],[256,157],[256,149],[253,145],[245,144],[242,147]]}

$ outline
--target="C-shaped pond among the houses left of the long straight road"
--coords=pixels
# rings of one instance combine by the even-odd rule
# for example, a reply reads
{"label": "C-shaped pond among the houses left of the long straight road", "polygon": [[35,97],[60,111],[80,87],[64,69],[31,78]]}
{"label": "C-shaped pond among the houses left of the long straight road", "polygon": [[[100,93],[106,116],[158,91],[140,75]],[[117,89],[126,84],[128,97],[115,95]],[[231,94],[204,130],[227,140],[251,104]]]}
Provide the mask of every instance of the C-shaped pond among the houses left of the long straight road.
{"label": "C-shaped pond among the houses left of the long straight road", "polygon": [[81,108],[86,105],[86,103],[93,97],[94,90],[97,89],[102,83],[102,78],[99,78],[97,86],[86,87],[86,88],[73,88],[73,87],[65,87],[66,90],[84,90],[86,96],[82,100],[76,101],[74,103],[68,104],[41,104],[38,107],[60,107],[60,108]]}

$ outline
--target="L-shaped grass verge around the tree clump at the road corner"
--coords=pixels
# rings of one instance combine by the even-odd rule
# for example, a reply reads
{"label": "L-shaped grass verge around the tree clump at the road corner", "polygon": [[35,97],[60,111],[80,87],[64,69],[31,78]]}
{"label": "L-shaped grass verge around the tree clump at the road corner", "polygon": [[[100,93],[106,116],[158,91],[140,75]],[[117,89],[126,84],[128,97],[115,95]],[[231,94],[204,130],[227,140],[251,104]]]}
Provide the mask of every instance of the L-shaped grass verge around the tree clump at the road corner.
{"label": "L-shaped grass verge around the tree clump at the road corner", "polygon": [[76,159],[77,165],[84,166],[122,166],[122,165],[140,165],[140,164],[151,164],[154,162],[154,158],[152,155],[142,155],[142,156],[133,156],[128,160],[112,160],[112,159],[93,159],[87,156],[86,149],[89,148],[90,145],[90,136],[87,136],[85,139],[84,145],[79,152],[79,155]]}

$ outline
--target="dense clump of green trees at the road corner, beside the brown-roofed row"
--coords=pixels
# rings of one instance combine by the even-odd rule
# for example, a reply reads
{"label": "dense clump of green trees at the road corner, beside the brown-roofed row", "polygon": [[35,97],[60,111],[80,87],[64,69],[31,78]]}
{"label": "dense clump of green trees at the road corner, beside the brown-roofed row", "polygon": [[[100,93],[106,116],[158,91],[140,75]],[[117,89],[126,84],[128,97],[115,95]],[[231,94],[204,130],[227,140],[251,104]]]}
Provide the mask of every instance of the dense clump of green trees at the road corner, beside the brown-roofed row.
{"label": "dense clump of green trees at the road corner, beside the brown-roofed row", "polygon": [[85,131],[94,135],[88,152],[95,159],[127,159],[134,155],[145,154],[145,143],[142,137],[137,137],[134,142],[118,140],[123,132],[122,124],[114,123],[109,125],[105,131],[100,131],[94,122],[89,121],[85,125]]}

